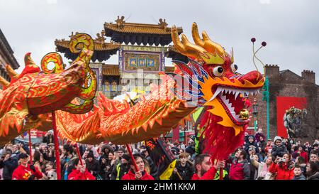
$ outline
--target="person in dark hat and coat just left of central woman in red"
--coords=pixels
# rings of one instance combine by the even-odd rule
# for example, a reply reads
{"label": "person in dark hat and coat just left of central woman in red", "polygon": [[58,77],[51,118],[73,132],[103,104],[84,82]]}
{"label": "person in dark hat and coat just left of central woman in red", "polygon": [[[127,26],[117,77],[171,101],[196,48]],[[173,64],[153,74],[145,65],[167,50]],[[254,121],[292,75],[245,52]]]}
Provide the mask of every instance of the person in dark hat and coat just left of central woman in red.
{"label": "person in dark hat and coat just left of central woman in red", "polygon": [[111,174],[111,180],[121,180],[121,178],[126,173],[128,173],[128,170],[130,168],[130,166],[128,165],[129,161],[130,161],[130,155],[128,153],[123,153],[121,155],[121,162],[114,165],[114,167],[113,167],[113,171]]}

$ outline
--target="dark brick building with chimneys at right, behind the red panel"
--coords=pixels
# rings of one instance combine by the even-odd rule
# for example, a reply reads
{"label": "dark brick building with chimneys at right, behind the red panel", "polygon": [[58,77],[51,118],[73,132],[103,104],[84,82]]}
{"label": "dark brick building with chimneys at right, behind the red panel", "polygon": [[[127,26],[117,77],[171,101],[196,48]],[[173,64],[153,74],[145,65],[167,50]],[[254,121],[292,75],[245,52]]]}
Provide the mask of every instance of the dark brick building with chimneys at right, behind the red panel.
{"label": "dark brick building with chimneys at right, behind the red panel", "polygon": [[[313,141],[318,139],[319,133],[319,86],[315,84],[315,72],[303,70],[301,76],[291,70],[279,70],[278,65],[266,65],[266,75],[269,77],[269,134],[270,138],[279,134],[278,126],[284,125],[278,114],[278,97],[300,97],[306,99],[307,115],[303,119],[301,129],[303,133],[297,139]],[[253,102],[253,97],[250,98]],[[259,112],[258,127],[267,133],[267,103],[262,101],[262,95],[257,96]],[[254,126],[251,122],[250,126]],[[279,126],[280,127],[280,126]]]}

